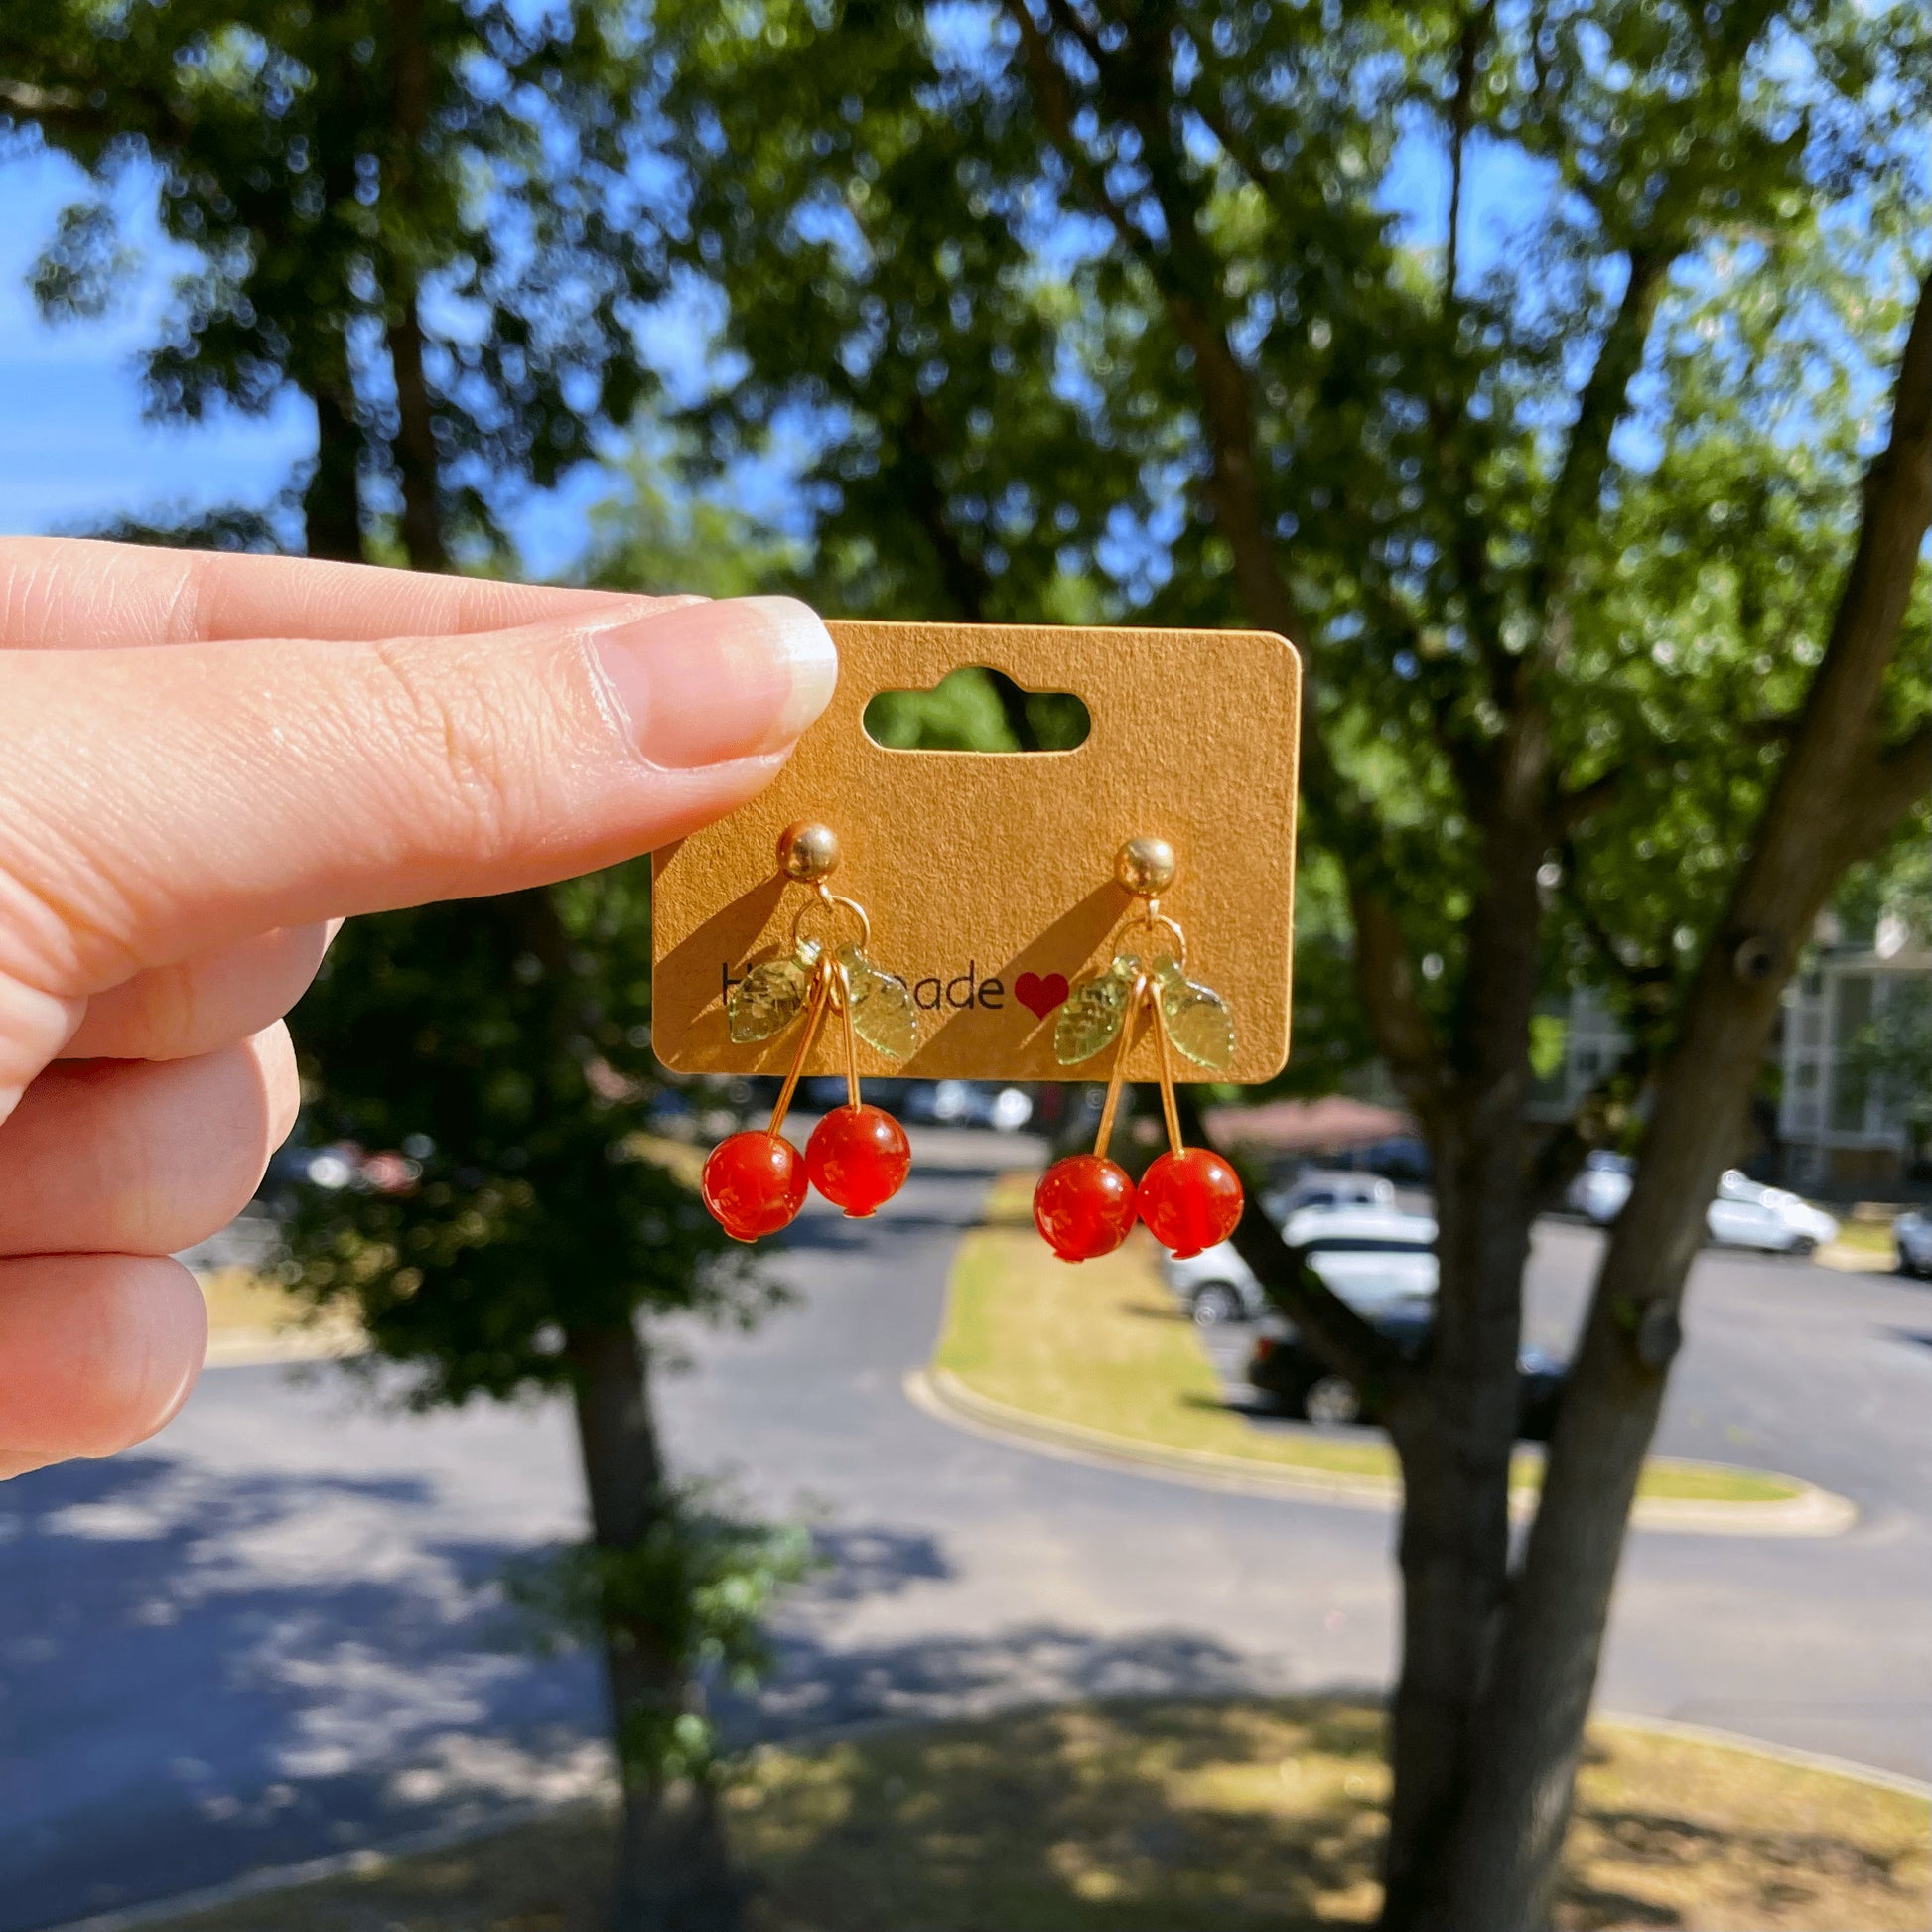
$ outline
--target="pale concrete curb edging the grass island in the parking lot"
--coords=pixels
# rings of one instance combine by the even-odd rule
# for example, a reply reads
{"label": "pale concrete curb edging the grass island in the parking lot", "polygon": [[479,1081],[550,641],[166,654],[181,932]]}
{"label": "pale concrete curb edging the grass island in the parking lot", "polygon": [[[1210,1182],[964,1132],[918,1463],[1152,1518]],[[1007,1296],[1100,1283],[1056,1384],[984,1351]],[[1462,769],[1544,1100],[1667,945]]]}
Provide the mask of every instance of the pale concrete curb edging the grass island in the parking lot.
{"label": "pale concrete curb edging the grass island in the parking lot", "polygon": [[[1331,1503],[1343,1509],[1401,1505],[1401,1486],[1379,1476],[1345,1476],[1325,1470],[1264,1468],[1208,1449],[1161,1449],[1111,1435],[1078,1422],[1055,1422],[1026,1408],[995,1401],[966,1387],[945,1368],[916,1368],[902,1383],[906,1401],[937,1422],[972,1435],[1086,1463],[1092,1468],[1124,1470],[1194,1490],[1233,1495],[1262,1495],[1283,1503]],[[1712,1464],[1718,1466],[1718,1464]],[[1797,1482],[1797,1478],[1791,1478]],[[1530,1503],[1511,1503],[1511,1515],[1528,1519]],[[1841,1536],[1859,1520],[1859,1509],[1843,1495],[1801,1484],[1795,1497],[1781,1503],[1700,1503],[1681,1497],[1642,1497],[1631,1511],[1631,1526],[1679,1536]]]}

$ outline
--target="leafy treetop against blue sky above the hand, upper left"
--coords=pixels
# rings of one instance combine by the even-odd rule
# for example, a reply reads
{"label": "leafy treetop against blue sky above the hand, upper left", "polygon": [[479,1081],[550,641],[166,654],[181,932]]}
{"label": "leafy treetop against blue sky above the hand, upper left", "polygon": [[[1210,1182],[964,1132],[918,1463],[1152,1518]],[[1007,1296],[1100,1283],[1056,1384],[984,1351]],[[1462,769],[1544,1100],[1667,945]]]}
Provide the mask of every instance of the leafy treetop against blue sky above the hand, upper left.
{"label": "leafy treetop against blue sky above the hand, upper left", "polygon": [[504,497],[554,483],[643,392],[647,75],[622,0],[14,0],[0,143],[89,176],[37,274],[56,317],[114,298],[133,263],[110,191],[153,168],[195,263],[143,357],[151,413],[299,390],[309,554],[388,531],[437,570],[491,549]]}

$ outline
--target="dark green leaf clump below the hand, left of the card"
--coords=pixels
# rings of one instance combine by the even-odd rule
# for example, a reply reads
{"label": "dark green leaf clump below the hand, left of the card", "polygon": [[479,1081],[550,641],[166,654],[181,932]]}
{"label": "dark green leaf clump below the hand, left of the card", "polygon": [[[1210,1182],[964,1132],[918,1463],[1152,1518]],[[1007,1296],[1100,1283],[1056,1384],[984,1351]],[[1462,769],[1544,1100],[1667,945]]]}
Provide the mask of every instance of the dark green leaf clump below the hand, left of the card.
{"label": "dark green leaf clump below the hand, left of the card", "polygon": [[294,1287],[346,1302],[417,1406],[564,1387],[564,1335],[775,1298],[696,1192],[643,1157],[639,862],[547,891],[355,920],[294,1032],[305,1130],[402,1150],[400,1194],[309,1188]]}

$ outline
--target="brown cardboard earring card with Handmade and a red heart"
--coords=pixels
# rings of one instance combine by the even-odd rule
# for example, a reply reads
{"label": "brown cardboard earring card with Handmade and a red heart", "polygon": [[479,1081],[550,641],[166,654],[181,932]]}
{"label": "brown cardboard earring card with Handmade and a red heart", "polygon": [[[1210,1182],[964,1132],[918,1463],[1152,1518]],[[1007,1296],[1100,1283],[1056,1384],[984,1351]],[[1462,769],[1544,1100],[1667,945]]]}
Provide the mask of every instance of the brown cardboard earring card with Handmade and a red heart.
{"label": "brown cardboard earring card with Handmade and a red heart", "polygon": [[[867,956],[920,1009],[920,1045],[860,1072],[960,1080],[1105,1078],[1053,1053],[1068,985],[1103,968],[1136,900],[1115,883],[1134,837],[1165,838],[1179,869],[1161,912],[1186,933],[1186,972],[1235,1016],[1235,1061],[1180,1078],[1267,1080],[1289,1057],[1294,916],[1294,753],[1300,661],[1267,632],[1078,630],[1022,624],[835,622],[838,690],[748,806],[653,860],[651,1041],[676,1072],[782,1074],[794,1022],[734,1045],[724,993],[790,951],[810,887],[779,869],[779,835],[819,819],[838,835],[831,887],[871,922]],[[1092,730],[1070,752],[898,752],[862,724],[877,692],[931,690],[960,665],[1022,690],[1074,692]],[[811,916],[808,931],[821,931]],[[844,1068],[821,1028],[808,1074]],[[1157,1072],[1142,1036],[1128,1078]]]}

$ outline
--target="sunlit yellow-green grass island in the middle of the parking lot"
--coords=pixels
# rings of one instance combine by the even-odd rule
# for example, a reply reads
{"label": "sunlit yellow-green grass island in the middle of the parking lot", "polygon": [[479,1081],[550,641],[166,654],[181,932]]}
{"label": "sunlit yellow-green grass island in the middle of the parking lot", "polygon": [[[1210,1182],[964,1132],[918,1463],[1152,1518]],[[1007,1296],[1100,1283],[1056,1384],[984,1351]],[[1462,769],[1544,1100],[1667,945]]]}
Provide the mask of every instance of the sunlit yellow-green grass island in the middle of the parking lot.
{"label": "sunlit yellow-green grass island in the middle of the parking lot", "polygon": [[[935,1368],[995,1403],[1144,1445],[1395,1480],[1395,1451],[1379,1430],[1262,1430],[1227,1408],[1146,1231],[1097,1262],[1068,1265],[1034,1233],[1030,1204],[1032,1177],[1001,1179],[985,1225],[960,1244]],[[1534,1488],[1540,1474],[1540,1455],[1520,1451],[1515,1482]],[[1658,1461],[1638,1493],[1781,1503],[1799,1488],[1756,1470]]]}

